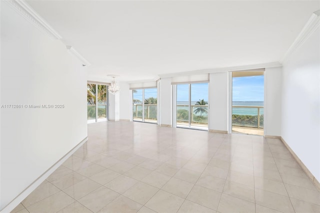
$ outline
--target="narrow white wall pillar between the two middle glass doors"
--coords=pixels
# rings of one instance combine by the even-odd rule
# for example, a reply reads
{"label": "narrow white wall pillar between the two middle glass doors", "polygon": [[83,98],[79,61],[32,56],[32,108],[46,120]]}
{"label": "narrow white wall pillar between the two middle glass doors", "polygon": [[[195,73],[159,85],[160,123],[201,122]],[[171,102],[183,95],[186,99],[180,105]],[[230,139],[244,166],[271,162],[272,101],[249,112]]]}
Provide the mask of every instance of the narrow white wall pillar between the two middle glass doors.
{"label": "narrow white wall pillar between the two middle glass doors", "polygon": [[172,125],[172,86],[171,77],[163,77],[160,81],[160,121],[161,125]]}

